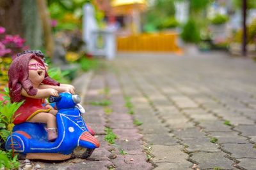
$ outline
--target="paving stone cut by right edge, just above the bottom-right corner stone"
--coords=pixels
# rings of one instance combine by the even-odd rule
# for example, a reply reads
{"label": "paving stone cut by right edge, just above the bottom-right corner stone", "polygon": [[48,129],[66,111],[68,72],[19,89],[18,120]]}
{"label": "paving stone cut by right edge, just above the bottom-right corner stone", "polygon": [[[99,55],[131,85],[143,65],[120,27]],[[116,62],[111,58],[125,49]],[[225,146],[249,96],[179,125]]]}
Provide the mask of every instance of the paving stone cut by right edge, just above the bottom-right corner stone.
{"label": "paving stone cut by right edge, just above the bottom-right corner stone", "polygon": [[245,144],[235,144],[235,143],[225,143],[223,144],[223,149],[227,152],[232,153],[231,157],[236,159],[241,158],[254,158],[256,159],[256,149],[253,148],[251,143]]}

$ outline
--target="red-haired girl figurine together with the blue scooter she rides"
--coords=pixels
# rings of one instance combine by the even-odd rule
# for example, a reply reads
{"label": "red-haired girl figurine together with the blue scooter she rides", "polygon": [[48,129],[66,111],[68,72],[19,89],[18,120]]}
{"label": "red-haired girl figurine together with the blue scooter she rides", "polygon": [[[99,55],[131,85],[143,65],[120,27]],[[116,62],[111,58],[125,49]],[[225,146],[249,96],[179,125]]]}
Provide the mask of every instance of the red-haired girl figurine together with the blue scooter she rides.
{"label": "red-haired girl figurine together with the blue scooter she rides", "polygon": [[[88,158],[100,146],[83,120],[85,111],[74,87],[52,80],[39,53],[22,52],[13,60],[8,77],[11,102],[24,103],[13,115],[15,126],[6,150],[20,153],[20,159],[65,160],[72,155]],[[43,104],[47,97],[57,110]],[[76,155],[77,146],[86,150]]]}

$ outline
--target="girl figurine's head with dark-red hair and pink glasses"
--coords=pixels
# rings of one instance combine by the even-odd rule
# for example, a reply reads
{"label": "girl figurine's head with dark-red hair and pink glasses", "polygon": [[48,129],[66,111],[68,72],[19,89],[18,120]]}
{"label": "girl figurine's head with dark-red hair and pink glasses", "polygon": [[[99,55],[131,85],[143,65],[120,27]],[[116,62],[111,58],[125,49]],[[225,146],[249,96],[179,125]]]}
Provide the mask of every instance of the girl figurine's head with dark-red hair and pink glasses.
{"label": "girl figurine's head with dark-red hair and pink glasses", "polygon": [[44,83],[47,85],[60,85],[52,80],[45,71],[44,62],[35,53],[23,53],[16,57],[8,71],[8,86],[12,102],[22,100],[20,94],[23,88],[30,96],[35,96],[37,89],[33,85]]}

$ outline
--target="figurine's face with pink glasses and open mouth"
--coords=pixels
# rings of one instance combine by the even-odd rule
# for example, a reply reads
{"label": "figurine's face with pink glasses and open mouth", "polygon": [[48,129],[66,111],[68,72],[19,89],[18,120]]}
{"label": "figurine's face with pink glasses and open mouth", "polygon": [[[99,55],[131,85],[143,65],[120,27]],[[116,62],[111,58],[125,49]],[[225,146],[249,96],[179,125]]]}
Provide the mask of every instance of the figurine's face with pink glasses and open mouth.
{"label": "figurine's face with pink glasses and open mouth", "polygon": [[45,77],[45,67],[35,59],[31,59],[28,64],[29,80],[33,85],[40,85]]}

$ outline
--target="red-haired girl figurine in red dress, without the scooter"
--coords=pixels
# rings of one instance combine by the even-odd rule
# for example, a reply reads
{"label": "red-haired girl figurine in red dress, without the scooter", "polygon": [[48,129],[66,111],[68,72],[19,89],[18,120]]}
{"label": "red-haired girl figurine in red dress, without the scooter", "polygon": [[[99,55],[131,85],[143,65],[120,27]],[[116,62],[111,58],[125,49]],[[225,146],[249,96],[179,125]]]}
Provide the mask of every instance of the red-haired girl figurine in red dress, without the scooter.
{"label": "red-haired girl figurine in red dress, without the scooter", "polygon": [[74,90],[60,87],[45,71],[44,62],[36,53],[22,53],[13,60],[8,71],[9,89],[12,102],[24,100],[14,114],[14,124],[35,122],[47,124],[47,137],[54,141],[58,137],[56,113],[51,106],[42,106],[42,101],[49,96],[58,96],[59,92]]}

